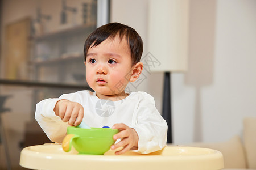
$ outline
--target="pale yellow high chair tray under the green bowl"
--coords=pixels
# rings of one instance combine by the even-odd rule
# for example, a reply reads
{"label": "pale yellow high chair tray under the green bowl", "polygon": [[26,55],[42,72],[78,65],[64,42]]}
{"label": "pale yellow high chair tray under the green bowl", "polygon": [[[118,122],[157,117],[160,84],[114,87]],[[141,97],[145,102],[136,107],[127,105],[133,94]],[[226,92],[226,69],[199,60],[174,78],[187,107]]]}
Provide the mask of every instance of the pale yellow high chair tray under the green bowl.
{"label": "pale yellow high chair tray under the green bowl", "polygon": [[29,169],[176,169],[217,170],[224,168],[220,151],[209,148],[166,146],[151,154],[134,151],[115,155],[79,155],[73,148],[64,152],[61,145],[44,144],[26,147],[20,154],[20,165]]}

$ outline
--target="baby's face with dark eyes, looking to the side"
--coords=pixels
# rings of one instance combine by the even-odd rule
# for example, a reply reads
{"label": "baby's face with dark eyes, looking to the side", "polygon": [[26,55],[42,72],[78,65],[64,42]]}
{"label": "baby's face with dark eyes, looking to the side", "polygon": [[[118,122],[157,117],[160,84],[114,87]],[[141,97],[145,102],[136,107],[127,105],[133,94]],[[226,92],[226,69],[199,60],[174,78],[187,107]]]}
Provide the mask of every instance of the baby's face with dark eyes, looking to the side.
{"label": "baby's face with dark eyes, looking to the side", "polygon": [[85,66],[86,80],[98,97],[123,94],[133,72],[126,38],[117,36],[89,48]]}

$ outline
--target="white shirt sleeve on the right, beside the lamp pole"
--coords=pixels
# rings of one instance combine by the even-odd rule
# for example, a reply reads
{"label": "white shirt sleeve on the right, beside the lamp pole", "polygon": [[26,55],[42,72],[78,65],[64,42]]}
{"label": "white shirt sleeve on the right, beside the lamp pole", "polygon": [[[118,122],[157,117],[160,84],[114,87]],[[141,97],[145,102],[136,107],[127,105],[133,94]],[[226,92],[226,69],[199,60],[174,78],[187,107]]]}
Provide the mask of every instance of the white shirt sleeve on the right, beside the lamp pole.
{"label": "white shirt sleeve on the right, beside the lamp pole", "polygon": [[155,107],[154,98],[146,95],[139,100],[135,125],[138,134],[138,150],[141,154],[161,150],[166,146],[167,123]]}

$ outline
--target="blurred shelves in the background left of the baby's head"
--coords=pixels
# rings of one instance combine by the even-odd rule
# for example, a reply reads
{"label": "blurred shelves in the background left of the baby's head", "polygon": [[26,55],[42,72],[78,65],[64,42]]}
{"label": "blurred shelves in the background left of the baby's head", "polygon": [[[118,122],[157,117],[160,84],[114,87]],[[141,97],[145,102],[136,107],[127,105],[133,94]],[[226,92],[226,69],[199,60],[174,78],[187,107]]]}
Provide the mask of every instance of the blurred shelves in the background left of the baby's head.
{"label": "blurred shelves in the background left of the baby's head", "polygon": [[32,80],[86,85],[83,48],[94,29],[96,22],[91,22],[31,36]]}

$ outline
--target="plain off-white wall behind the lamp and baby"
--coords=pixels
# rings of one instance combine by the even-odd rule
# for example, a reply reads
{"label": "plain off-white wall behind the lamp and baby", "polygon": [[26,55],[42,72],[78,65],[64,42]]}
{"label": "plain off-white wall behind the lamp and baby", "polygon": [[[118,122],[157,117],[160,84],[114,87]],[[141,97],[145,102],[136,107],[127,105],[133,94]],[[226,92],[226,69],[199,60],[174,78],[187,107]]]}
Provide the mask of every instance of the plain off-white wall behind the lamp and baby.
{"label": "plain off-white wall behind the lamp and baby", "polygon": [[[256,116],[256,1],[193,0],[189,70],[172,74],[174,143],[217,142],[242,135],[243,117]],[[112,0],[111,22],[135,28],[147,49],[148,1]],[[163,75],[137,88],[161,111]]]}

